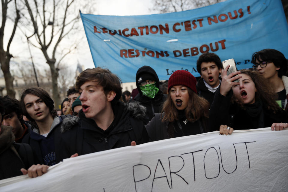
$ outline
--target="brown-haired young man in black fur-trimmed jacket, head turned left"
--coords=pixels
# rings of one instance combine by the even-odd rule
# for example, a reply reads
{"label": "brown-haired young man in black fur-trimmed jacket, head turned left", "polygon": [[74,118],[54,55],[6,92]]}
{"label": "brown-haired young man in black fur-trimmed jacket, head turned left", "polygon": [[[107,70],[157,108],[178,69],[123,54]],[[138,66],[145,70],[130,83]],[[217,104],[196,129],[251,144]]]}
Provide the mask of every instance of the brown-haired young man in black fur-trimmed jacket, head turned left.
{"label": "brown-haired young man in black fur-trimmed jacket, head turned left", "polygon": [[139,103],[125,105],[121,80],[108,69],[86,69],[76,79],[82,110],[66,118],[56,149],[57,162],[77,153],[84,155],[149,141],[144,128],[145,108]]}

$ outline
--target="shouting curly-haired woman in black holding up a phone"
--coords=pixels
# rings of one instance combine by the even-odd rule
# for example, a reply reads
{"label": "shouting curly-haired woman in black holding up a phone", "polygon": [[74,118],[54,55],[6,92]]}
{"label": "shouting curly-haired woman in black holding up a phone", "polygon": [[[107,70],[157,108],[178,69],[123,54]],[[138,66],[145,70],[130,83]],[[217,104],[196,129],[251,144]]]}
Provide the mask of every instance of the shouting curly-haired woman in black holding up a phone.
{"label": "shouting curly-haired woman in black holding up a phone", "polygon": [[228,135],[239,129],[287,128],[288,115],[275,102],[277,95],[271,91],[268,81],[251,70],[227,75],[228,68],[229,65],[222,70],[220,88],[211,105],[210,129]]}

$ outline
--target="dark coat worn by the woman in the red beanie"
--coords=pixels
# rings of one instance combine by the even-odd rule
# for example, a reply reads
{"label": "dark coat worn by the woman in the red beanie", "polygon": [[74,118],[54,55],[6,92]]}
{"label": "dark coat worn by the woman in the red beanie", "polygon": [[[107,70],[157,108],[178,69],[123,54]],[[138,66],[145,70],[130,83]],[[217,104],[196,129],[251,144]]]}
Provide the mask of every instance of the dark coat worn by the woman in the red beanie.
{"label": "dark coat worn by the woman in the red beanie", "polygon": [[[159,141],[164,139],[169,139],[168,129],[171,126],[171,130],[175,129],[175,124],[177,126],[177,130],[182,129],[181,125],[179,128],[179,123],[174,122],[162,122],[162,117],[164,113],[156,113],[152,120],[145,126],[147,133],[149,135],[150,141]],[[198,121],[194,122],[189,129],[193,129],[194,134],[201,134],[209,132],[208,130],[208,118],[201,118]],[[183,135],[187,136],[187,135]]]}

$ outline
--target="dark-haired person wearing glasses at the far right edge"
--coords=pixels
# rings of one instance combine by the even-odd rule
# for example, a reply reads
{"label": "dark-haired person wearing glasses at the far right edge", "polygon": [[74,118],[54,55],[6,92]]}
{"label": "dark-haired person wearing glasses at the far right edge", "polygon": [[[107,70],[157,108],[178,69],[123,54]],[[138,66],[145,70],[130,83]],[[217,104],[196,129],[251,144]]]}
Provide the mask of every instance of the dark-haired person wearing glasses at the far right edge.
{"label": "dark-haired person wearing glasses at the far right edge", "polygon": [[252,55],[253,69],[257,70],[265,79],[274,93],[277,93],[277,104],[288,111],[288,77],[287,60],[285,56],[275,49],[263,49]]}

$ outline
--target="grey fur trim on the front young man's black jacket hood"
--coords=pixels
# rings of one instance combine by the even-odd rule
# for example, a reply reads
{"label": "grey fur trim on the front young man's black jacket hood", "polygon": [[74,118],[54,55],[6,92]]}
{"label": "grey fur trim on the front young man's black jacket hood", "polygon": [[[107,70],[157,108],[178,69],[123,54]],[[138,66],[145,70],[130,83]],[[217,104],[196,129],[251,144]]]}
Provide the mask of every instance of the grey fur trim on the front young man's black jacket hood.
{"label": "grey fur trim on the front young man's black jacket hood", "polygon": [[[119,110],[117,113],[117,109]],[[142,106],[139,102],[131,102],[131,103],[123,103],[121,101],[116,103],[116,106],[113,107],[113,111],[115,114],[115,119],[123,119],[126,116],[134,117],[136,119],[145,120],[146,117],[146,107]],[[80,117],[80,118],[79,118]],[[80,125],[81,120],[85,120],[85,115],[82,110],[79,111],[79,117],[76,116],[70,116],[63,119],[62,125],[61,125],[61,133],[64,133],[71,128],[73,128],[75,125]]]}

